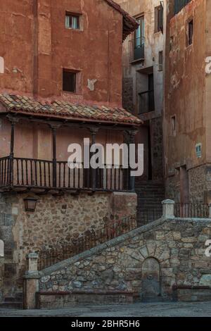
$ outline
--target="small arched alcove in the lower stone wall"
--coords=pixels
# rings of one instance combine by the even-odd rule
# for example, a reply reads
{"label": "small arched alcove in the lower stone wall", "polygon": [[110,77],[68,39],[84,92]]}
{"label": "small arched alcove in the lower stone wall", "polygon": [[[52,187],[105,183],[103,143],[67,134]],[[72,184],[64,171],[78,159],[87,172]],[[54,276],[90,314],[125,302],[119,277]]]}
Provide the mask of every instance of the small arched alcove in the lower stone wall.
{"label": "small arched alcove in the lower stone wall", "polygon": [[146,258],[142,264],[141,298],[143,301],[157,301],[160,294],[160,263],[156,258]]}

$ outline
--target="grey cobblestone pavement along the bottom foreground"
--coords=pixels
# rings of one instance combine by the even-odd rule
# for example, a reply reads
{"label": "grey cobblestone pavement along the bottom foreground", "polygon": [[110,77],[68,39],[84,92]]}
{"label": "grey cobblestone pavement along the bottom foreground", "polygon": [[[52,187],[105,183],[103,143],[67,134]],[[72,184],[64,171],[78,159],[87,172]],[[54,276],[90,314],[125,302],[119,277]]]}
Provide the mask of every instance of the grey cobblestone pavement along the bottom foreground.
{"label": "grey cobblestone pavement along the bottom foreground", "polygon": [[0,317],[211,317],[211,302],[76,306],[58,310],[0,309]]}

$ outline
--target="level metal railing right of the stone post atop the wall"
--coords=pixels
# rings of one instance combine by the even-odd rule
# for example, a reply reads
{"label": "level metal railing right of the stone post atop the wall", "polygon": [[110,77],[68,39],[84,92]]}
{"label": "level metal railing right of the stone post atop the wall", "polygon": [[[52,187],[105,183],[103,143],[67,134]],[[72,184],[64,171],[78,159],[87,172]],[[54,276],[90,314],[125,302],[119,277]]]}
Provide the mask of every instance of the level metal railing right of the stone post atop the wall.
{"label": "level metal railing right of the stone post atop the wall", "polygon": [[175,204],[174,216],[176,218],[209,218],[208,204]]}

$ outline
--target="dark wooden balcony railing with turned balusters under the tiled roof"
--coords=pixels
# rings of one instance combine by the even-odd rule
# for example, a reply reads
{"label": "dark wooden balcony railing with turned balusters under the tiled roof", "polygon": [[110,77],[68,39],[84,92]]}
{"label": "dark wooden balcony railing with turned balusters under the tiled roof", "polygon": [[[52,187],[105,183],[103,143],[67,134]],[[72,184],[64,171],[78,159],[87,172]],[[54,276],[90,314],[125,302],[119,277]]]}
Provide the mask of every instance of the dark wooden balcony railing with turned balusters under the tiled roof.
{"label": "dark wooden balcony railing with turned balusters under the tiled roof", "polygon": [[31,187],[43,189],[93,189],[99,191],[130,191],[130,171],[111,165],[107,168],[70,168],[65,161],[34,158],[0,158],[0,187]]}

